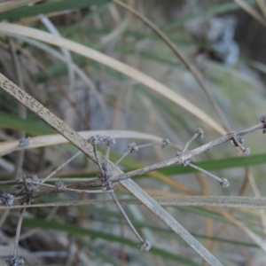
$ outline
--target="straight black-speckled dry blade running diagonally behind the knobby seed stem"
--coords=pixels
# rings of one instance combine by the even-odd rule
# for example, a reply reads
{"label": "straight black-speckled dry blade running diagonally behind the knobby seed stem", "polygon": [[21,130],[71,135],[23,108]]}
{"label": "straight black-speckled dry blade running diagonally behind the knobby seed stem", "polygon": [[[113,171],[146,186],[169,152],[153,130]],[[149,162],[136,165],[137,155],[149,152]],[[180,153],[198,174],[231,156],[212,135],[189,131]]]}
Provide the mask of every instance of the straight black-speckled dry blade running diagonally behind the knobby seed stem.
{"label": "straight black-speckled dry blade running diagonally behind the knobby seed stem", "polygon": [[[82,138],[73,129],[69,128],[64,121],[61,121],[56,115],[51,113],[43,105],[29,96],[25,91],[13,82],[8,80],[3,74],[0,74],[0,87],[8,93],[10,96],[18,100],[22,105],[26,106],[31,112],[38,115],[43,121],[46,121],[53,129],[56,129],[62,136],[66,137],[73,145],[75,145],[82,153],[86,154],[91,160],[96,162],[93,153],[93,147]],[[99,160],[104,161],[105,158],[99,154]],[[110,173],[111,175],[121,174],[120,168],[114,166],[110,161]],[[200,244],[200,242],[193,238],[192,235],[184,229],[184,227],[176,221],[168,212],[153,200],[147,193],[145,193],[135,182],[131,179],[123,180],[120,182],[129,192],[131,192],[138,200],[143,202],[145,207],[150,209],[154,215],[156,215],[163,223],[175,231],[184,241],[191,246],[202,258],[204,258],[211,265],[221,266],[215,256],[207,251],[207,249]]]}

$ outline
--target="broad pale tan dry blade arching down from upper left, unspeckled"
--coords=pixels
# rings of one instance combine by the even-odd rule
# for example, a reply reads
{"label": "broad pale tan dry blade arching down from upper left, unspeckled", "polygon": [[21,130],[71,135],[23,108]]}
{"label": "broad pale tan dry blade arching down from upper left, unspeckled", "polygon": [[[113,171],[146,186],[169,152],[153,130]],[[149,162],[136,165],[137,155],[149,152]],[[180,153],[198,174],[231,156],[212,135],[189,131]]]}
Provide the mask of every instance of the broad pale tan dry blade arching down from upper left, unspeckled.
{"label": "broad pale tan dry blade arching down from upper left, unspeckled", "polygon": [[190,101],[181,97],[175,91],[170,90],[164,84],[154,80],[149,75],[138,71],[134,67],[123,64],[118,60],[112,59],[106,56],[105,54],[90,49],[89,47],[86,47],[80,43],[74,43],[65,38],[54,36],[47,32],[32,27],[24,27],[9,23],[0,23],[0,30],[16,35],[31,37],[43,41],[45,43],[51,43],[52,45],[57,45],[59,47],[64,47],[69,51],[74,51],[76,53],[81,54],[84,57],[95,60],[100,64],[109,66],[114,70],[129,76],[130,78],[136,80],[137,82],[144,84],[146,87],[156,91],[163,97],[168,98],[169,100],[175,102],[177,105],[183,107],[186,111],[192,113],[200,120],[206,122],[207,125],[209,125],[212,129],[215,129],[220,134],[226,134],[226,131],[216,121],[214,121],[207,113],[203,112],[199,107],[193,105]]}

